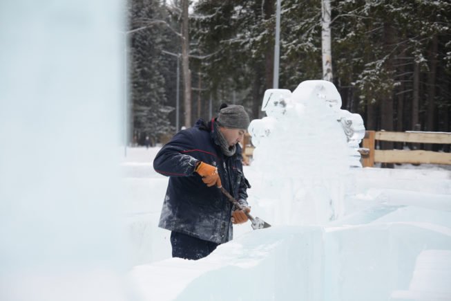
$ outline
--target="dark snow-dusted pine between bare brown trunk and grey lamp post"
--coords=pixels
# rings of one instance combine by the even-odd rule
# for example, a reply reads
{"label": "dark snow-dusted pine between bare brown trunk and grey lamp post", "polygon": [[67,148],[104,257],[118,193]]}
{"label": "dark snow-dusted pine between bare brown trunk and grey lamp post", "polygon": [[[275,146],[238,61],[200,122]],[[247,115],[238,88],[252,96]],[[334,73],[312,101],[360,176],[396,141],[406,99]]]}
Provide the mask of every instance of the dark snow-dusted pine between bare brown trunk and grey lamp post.
{"label": "dark snow-dusted pine between bare brown trunk and grey lamp post", "polygon": [[197,47],[209,55],[202,68],[213,97],[231,102],[232,91],[238,91],[239,102],[252,108],[254,118],[265,89],[272,86],[273,6],[274,1],[204,0],[193,16]]}

